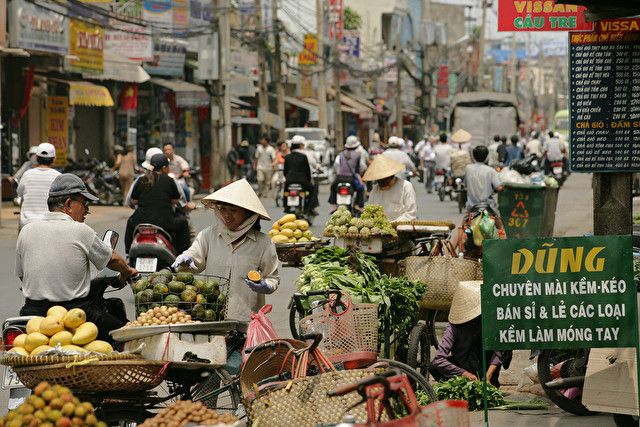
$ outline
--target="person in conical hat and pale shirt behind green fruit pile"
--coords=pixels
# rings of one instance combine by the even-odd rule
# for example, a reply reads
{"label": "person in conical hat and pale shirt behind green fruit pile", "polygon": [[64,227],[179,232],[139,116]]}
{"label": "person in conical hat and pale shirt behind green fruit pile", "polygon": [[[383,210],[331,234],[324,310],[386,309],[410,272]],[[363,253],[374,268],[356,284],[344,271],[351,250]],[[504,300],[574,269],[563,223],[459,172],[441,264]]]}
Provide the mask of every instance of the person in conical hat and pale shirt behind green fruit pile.
{"label": "person in conical hat and pale shirt behind green fruit pile", "polygon": [[381,205],[390,222],[412,221],[417,218],[416,191],[409,181],[397,176],[404,167],[402,163],[383,153],[373,159],[362,177],[363,181],[376,182],[368,203]]}

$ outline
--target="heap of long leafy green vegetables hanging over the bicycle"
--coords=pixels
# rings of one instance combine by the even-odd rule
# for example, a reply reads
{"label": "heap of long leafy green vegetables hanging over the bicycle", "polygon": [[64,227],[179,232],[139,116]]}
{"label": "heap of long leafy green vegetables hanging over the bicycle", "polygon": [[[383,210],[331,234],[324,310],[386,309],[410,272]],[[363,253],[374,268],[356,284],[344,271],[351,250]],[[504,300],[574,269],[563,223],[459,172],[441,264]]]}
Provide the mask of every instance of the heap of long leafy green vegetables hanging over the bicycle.
{"label": "heap of long leafy green vegetables hanging over the bicycle", "polygon": [[303,263],[297,281],[300,292],[340,289],[355,303],[378,304],[378,342],[385,341],[388,325],[400,351],[406,349],[411,328],[418,321],[418,303],[426,290],[424,283],[383,275],[375,258],[351,248],[322,248],[304,257]]}

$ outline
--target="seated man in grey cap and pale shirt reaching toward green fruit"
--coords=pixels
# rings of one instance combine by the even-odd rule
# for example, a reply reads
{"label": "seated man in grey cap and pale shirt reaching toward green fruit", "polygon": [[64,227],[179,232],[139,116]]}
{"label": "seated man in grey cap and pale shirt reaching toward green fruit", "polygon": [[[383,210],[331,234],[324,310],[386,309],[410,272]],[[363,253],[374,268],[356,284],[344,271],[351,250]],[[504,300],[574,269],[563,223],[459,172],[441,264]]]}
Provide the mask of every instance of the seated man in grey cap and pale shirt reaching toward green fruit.
{"label": "seated man in grey cap and pale shirt reaching toward green fruit", "polygon": [[137,272],[84,224],[89,202],[98,198],[87,191],[82,179],[58,174],[48,194],[48,212],[40,221],[25,225],[16,243],[16,275],[25,296],[20,315],[45,316],[54,305],[78,307],[98,326],[100,336],[108,337],[108,331],[123,324],[89,296],[91,265],[119,272],[122,282]]}

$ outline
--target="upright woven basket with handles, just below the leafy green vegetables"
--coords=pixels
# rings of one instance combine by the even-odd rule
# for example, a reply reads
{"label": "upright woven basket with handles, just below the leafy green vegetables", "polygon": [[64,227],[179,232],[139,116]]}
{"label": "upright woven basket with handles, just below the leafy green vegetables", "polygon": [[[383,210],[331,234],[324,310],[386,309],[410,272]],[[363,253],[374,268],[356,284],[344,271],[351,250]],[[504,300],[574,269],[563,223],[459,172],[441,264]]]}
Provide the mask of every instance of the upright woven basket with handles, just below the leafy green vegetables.
{"label": "upright woven basket with handles, just below the leafy green vegetables", "polygon": [[[335,301],[335,300],[333,300]],[[378,306],[353,304],[342,293],[340,303],[344,311],[337,313],[334,302],[328,302],[300,320],[303,334],[322,333],[319,348],[334,363],[375,361],[378,354]]]}

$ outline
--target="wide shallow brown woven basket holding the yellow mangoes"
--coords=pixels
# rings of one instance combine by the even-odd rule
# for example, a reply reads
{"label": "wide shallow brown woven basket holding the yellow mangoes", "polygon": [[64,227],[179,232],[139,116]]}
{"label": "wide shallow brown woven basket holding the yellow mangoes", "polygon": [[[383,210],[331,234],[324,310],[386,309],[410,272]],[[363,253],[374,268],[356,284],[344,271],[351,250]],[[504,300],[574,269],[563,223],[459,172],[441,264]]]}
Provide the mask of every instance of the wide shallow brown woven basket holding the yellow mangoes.
{"label": "wide shallow brown woven basket holding the yellow mangoes", "polygon": [[82,391],[143,391],[156,387],[165,376],[167,362],[114,360],[58,363],[16,367],[20,381],[28,388],[48,381]]}

